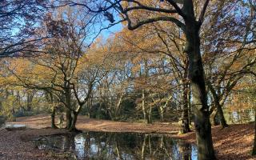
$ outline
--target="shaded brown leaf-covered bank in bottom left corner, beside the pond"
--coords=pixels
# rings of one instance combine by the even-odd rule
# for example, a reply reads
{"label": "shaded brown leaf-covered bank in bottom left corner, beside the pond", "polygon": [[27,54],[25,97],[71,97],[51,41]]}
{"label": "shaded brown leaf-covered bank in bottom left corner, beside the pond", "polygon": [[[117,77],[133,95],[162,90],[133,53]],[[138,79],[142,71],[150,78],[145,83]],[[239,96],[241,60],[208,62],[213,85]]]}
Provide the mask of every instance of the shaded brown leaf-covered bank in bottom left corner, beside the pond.
{"label": "shaded brown leaf-covered bank in bottom left corner, beside the pond", "polygon": [[39,130],[0,130],[0,159],[58,159],[43,150],[35,148],[30,140],[45,134],[62,133],[64,130],[39,129]]}

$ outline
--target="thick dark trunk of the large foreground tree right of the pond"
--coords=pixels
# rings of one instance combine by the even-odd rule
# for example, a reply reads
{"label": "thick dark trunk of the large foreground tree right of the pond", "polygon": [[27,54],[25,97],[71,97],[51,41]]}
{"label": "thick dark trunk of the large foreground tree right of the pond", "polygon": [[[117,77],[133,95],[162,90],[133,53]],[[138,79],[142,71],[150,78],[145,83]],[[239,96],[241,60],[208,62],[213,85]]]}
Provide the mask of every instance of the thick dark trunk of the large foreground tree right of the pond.
{"label": "thick dark trunk of the large foreground tree right of the pond", "polygon": [[[184,7],[188,8],[188,10],[193,10],[193,7],[191,6]],[[187,18],[185,22],[185,52],[188,54],[189,58],[189,79],[193,98],[192,106],[194,111],[194,128],[198,145],[198,159],[213,160],[216,158],[211,137],[210,112],[209,106],[207,105],[206,83],[200,54],[200,26],[198,22],[195,21],[194,17]]]}

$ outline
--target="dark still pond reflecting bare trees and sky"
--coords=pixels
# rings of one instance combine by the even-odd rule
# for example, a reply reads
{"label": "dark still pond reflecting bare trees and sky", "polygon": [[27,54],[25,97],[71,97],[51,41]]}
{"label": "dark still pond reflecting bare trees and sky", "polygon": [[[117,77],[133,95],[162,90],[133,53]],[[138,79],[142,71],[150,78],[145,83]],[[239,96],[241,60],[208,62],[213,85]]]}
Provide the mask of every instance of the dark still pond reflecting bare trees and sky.
{"label": "dark still pond reflecting bare trees and sky", "polygon": [[[74,159],[179,160],[198,159],[195,145],[165,134],[86,132],[51,135],[40,139],[41,150],[62,150]],[[71,156],[71,155],[70,155]]]}

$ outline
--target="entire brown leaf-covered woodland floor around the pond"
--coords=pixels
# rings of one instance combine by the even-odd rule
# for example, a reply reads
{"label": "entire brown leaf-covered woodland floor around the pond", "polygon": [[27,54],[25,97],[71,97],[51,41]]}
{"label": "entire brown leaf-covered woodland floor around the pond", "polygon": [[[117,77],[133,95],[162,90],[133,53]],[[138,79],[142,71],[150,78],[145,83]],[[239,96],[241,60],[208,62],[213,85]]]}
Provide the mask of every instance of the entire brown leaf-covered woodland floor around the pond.
{"label": "entire brown leaf-covered woodland floor around the pond", "polygon": [[[46,153],[34,147],[30,140],[39,135],[62,134],[66,130],[50,129],[50,116],[31,116],[17,118],[15,124],[26,124],[31,129],[7,131],[0,130],[0,159],[58,159],[55,154]],[[170,123],[153,123],[150,125],[132,122],[112,122],[106,120],[78,118],[79,130],[107,131],[107,132],[139,132],[171,134],[186,142],[195,142],[195,134],[177,135],[178,126]],[[254,140],[254,125],[231,125],[222,129],[220,126],[212,128],[214,150],[218,159],[256,159],[250,156]],[[64,159],[64,158],[62,158]]]}

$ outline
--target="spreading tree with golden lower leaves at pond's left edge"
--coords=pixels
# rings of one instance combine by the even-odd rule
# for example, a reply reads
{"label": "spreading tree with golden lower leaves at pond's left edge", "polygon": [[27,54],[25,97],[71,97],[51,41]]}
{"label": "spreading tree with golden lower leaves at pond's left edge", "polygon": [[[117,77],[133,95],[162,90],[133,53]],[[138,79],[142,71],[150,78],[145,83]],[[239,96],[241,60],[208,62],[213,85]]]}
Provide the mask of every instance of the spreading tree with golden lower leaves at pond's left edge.
{"label": "spreading tree with golden lower leaves at pond's left edge", "polygon": [[[80,81],[78,78],[78,65],[82,65],[79,61],[89,63],[84,54],[88,49],[85,40],[90,19],[86,13],[75,14],[74,10],[66,6],[58,8],[54,14],[48,14],[45,23],[40,33],[50,34],[52,38],[47,39],[46,46],[41,49],[44,54],[26,59],[26,64],[22,67],[18,67],[22,64],[16,63],[12,65],[14,67],[10,67],[10,70],[23,86],[46,90],[58,97],[58,100],[66,106],[67,129],[76,131],[78,113],[90,97],[93,83],[98,78],[98,70],[102,70],[101,67],[95,67],[101,66],[99,63],[94,66],[80,67],[80,72],[86,71],[79,74],[79,77],[84,78],[82,75],[88,74],[90,82],[87,83],[86,79]],[[91,64],[93,62],[90,60]],[[42,70],[45,70],[45,73],[42,73]],[[38,76],[35,77],[35,75]],[[86,82],[84,83],[86,87],[83,86],[83,93],[86,93],[84,100],[81,98],[84,94],[78,95],[78,82]]]}

